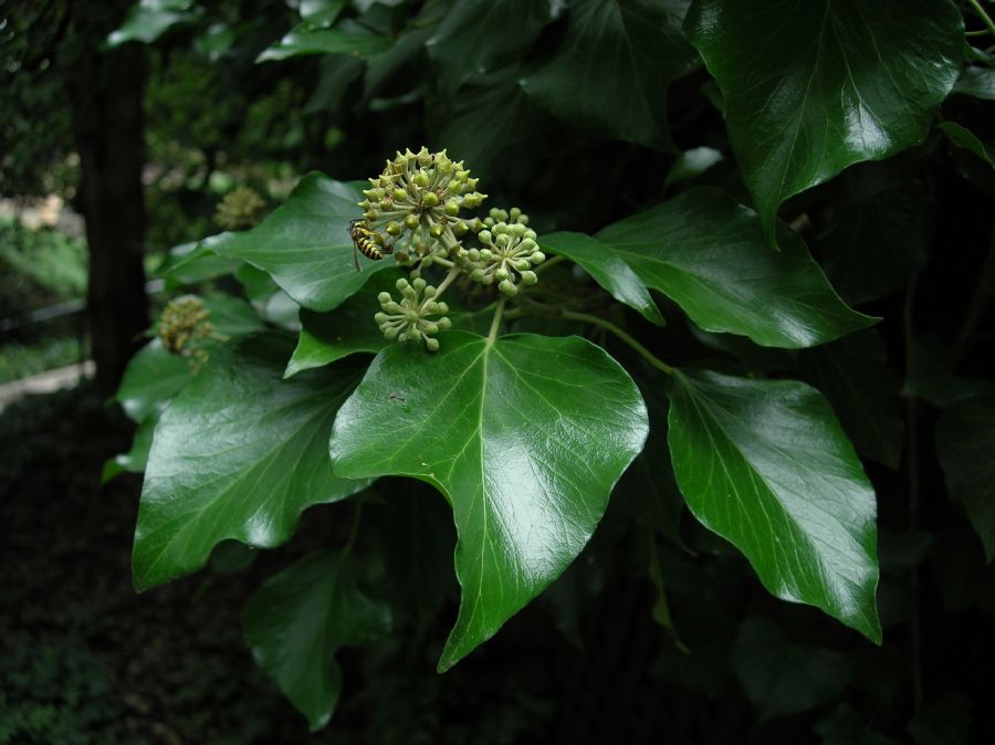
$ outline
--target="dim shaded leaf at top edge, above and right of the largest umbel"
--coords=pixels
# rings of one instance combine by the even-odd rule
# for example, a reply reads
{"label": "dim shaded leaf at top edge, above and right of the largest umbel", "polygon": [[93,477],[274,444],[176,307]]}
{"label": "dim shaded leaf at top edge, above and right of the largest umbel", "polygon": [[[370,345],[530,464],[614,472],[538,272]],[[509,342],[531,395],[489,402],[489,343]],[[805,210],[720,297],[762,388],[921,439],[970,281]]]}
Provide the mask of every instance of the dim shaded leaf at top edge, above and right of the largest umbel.
{"label": "dim shaded leaf at top edge, above and right of the largest umbel", "polygon": [[427,42],[443,95],[522,59],[553,19],[551,0],[463,0],[442,18]]}

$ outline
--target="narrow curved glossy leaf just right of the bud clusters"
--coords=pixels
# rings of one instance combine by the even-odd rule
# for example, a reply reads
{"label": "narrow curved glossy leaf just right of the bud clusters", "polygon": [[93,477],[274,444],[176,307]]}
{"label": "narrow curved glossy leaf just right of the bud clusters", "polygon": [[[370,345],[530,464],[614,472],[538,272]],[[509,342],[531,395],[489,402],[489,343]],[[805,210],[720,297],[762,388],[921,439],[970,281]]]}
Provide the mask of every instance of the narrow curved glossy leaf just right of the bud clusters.
{"label": "narrow curved glossy leaf just right of the bud clusters", "polygon": [[585,233],[549,233],[541,237],[544,251],[566,256],[580,264],[595,282],[619,303],[635,308],[650,323],[663,325],[657,303],[646,283],[611,249]]}

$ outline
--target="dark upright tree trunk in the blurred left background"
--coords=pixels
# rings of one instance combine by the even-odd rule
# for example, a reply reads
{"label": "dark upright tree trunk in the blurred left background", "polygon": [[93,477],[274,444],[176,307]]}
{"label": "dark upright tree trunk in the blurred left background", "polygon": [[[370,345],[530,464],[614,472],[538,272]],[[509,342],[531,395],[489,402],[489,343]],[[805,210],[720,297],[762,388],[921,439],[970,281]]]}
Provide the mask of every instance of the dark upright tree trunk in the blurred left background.
{"label": "dark upright tree trunk in the blurred left background", "polygon": [[[76,12],[81,27],[93,23]],[[105,394],[117,387],[137,335],[149,325],[143,265],[145,48],[100,51],[108,30],[87,29],[93,43],[69,77],[81,169],[76,201],[90,246],[87,314],[96,385]]]}

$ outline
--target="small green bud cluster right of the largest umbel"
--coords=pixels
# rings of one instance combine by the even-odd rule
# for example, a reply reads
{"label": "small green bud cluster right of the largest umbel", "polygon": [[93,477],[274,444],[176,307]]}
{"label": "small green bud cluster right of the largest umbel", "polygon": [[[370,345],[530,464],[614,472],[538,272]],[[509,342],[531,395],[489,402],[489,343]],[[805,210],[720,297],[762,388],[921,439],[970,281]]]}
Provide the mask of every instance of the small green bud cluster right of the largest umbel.
{"label": "small green bud cluster right of the largest umbel", "polygon": [[479,249],[461,249],[460,258],[470,279],[481,284],[498,284],[506,296],[519,294],[520,284],[535,284],[534,266],[546,255],[538,250],[535,231],[528,228],[528,216],[517,207],[510,211],[492,209],[476,233]]}

